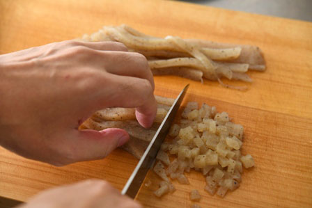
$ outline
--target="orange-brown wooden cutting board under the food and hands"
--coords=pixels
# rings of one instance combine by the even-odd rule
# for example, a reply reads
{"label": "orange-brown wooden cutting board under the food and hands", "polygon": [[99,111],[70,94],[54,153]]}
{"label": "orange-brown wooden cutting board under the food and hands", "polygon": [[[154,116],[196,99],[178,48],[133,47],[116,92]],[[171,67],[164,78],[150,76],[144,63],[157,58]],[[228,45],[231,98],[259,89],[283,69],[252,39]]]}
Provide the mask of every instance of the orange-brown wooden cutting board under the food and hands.
{"label": "orange-brown wooden cutting board under the food and hands", "polygon": [[[224,199],[205,193],[203,177],[192,172],[191,185],[175,182],[178,190],[159,200],[152,194],[156,177],[149,173],[153,186],[143,187],[137,200],[145,207],[189,207],[188,192],[198,189],[202,207],[312,207],[311,22],[176,1],[0,0],[0,54],[119,24],[161,37],[258,45],[267,61],[266,72],[249,72],[254,82],[246,92],[210,81],[155,77],[155,94],[176,97],[191,83],[185,101],[217,106],[242,124],[242,152],[253,155],[256,167],[244,171],[240,189]],[[136,164],[134,157],[116,150],[100,161],[56,168],[0,148],[0,195],[24,201],[44,189],[89,178],[106,179],[121,190]]]}

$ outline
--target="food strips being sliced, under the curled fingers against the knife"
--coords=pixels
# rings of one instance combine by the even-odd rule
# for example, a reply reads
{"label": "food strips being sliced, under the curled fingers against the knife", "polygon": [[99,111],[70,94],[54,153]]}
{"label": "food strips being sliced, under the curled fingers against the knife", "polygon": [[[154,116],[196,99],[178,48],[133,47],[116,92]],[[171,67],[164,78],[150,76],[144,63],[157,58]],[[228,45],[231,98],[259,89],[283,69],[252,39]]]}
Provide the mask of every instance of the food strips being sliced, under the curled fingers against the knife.
{"label": "food strips being sliced, under the curled fingers against the knife", "polygon": [[124,108],[107,108],[97,111],[79,129],[95,129],[98,131],[108,128],[124,129],[130,135],[130,141],[121,148],[140,159],[174,102],[174,99],[168,97],[155,96],[155,98],[158,109],[155,121],[150,129],[145,129],[139,125],[135,118],[135,109]]}

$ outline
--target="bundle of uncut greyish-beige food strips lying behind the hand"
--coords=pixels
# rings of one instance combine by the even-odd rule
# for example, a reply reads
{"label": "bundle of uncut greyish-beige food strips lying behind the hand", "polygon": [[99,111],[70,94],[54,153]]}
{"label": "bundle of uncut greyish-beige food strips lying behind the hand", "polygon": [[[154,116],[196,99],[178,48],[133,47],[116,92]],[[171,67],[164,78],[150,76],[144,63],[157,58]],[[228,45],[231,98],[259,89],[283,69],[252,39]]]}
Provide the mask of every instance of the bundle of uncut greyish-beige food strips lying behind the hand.
{"label": "bundle of uncut greyish-beige food strips lying behind the hand", "polygon": [[146,56],[155,76],[176,75],[196,81],[205,78],[237,90],[245,90],[247,87],[228,85],[221,78],[251,82],[246,74],[248,70],[265,70],[265,61],[256,46],[182,39],[170,35],[155,38],[124,24],[104,26],[97,33],[84,35],[81,40],[123,42],[130,51]]}

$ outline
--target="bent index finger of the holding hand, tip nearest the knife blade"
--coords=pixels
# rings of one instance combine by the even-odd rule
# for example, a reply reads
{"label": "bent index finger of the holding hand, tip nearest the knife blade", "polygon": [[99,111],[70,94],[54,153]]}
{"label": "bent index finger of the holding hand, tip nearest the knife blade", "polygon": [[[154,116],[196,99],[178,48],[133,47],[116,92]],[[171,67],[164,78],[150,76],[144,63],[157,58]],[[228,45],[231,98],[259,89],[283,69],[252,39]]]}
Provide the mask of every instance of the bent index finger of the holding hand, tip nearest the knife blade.
{"label": "bent index finger of the holding hand, tip nearest the knife blade", "polygon": [[107,107],[136,108],[136,117],[140,125],[145,128],[151,127],[157,113],[157,102],[150,82],[115,74],[110,74],[109,79],[111,88],[103,89],[103,103],[106,102],[109,105]]}

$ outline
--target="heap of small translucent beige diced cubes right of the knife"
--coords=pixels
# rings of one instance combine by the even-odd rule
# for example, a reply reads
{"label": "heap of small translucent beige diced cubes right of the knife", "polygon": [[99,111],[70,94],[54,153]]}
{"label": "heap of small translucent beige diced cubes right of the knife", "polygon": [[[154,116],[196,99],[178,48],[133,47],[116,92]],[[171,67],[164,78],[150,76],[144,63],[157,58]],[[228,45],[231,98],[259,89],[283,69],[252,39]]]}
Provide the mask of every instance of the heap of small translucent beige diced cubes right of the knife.
{"label": "heap of small translucent beige diced cubes right of the knife", "polygon": [[[223,198],[228,190],[234,191],[240,186],[242,166],[254,166],[253,158],[249,154],[242,156],[240,152],[244,128],[230,122],[228,113],[217,113],[214,106],[207,104],[198,109],[196,102],[187,104],[182,118],[180,125],[171,126],[171,137],[157,154],[159,162],[154,171],[164,181],[155,195],[160,197],[175,190],[168,177],[177,179],[180,184],[189,184],[185,172],[189,173],[194,168],[205,176],[204,190]],[[170,162],[165,152],[177,158]],[[166,170],[160,161],[168,166]],[[198,201],[201,195],[192,190],[189,198]]]}

